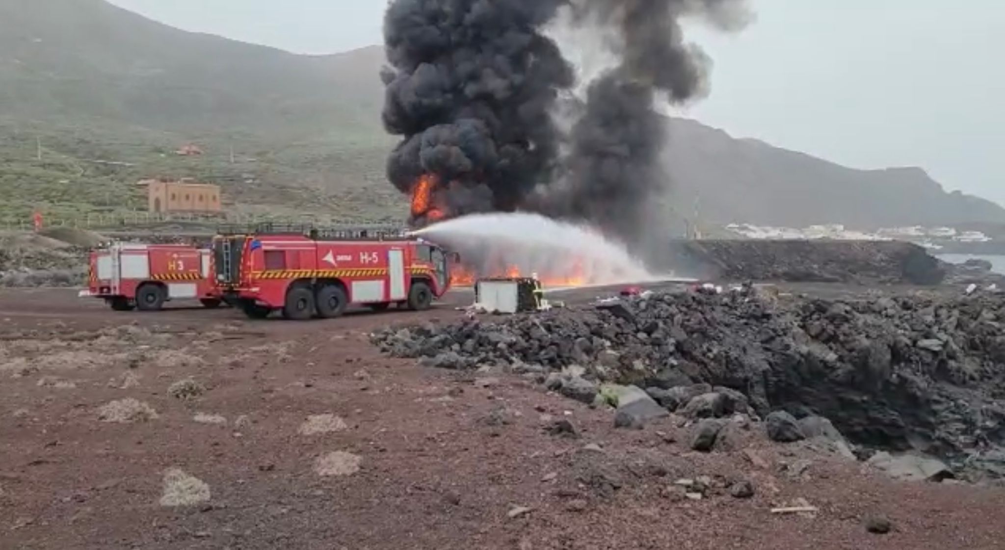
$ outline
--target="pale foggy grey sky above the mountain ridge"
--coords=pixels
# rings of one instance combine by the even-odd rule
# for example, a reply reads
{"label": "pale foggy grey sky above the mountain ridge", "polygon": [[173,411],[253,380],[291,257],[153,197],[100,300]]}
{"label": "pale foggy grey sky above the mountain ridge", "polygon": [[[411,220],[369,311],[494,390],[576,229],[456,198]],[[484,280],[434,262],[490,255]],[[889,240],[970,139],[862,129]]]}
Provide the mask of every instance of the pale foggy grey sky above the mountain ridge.
{"label": "pale foggy grey sky above the mountain ridge", "polygon": [[[112,0],[300,53],[379,43],[382,0]],[[854,168],[920,166],[1005,204],[1005,2],[752,0],[738,35],[690,29],[712,95],[681,112]],[[910,198],[906,198],[910,200]]]}

